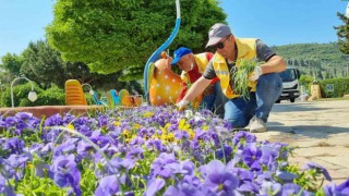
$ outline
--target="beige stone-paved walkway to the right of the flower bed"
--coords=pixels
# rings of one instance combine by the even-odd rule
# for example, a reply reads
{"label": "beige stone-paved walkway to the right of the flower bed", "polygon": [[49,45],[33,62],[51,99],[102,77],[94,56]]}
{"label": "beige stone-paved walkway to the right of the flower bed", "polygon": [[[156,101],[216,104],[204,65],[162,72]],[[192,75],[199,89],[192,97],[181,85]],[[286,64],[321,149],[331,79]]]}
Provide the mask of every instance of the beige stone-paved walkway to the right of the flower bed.
{"label": "beige stone-paved walkway to the right of the flower bed", "polygon": [[336,184],[349,179],[349,100],[281,102],[268,121],[257,138],[298,147],[291,163],[316,162]]}

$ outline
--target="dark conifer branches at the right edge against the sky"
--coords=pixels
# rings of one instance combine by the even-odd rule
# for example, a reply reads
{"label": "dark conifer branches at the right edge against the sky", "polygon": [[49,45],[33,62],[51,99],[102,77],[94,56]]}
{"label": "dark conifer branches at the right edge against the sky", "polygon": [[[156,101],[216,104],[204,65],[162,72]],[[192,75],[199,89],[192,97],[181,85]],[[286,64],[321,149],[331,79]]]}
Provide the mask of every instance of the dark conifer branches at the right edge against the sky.
{"label": "dark conifer branches at the right edge against the sky", "polygon": [[336,26],[338,45],[341,52],[349,54],[349,17],[337,12],[337,16],[344,22],[342,25]]}

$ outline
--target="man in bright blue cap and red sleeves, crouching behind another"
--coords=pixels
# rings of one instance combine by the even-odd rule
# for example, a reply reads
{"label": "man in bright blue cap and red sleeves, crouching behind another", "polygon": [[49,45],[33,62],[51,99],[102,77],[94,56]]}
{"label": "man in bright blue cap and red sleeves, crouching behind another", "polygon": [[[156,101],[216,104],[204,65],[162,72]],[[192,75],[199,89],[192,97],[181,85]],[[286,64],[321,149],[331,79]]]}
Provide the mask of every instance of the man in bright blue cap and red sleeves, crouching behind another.
{"label": "man in bright blue cap and red sleeves, crouching behind another", "polygon": [[[174,50],[174,57],[171,65],[178,65],[181,73],[182,90],[180,93],[177,102],[180,102],[190,85],[192,85],[195,81],[197,81],[205,71],[206,65],[208,64],[209,60],[214,56],[210,52],[203,52],[193,54],[192,50],[185,47],[180,47]],[[216,100],[216,90],[215,87],[218,88],[218,85],[215,85],[218,82],[218,77],[214,77],[209,85],[206,87],[205,90],[197,97],[197,100],[194,101],[194,107],[200,107],[201,109],[207,109],[215,112],[215,100]],[[218,88],[219,89],[219,88]],[[222,106],[221,106],[222,108]],[[221,114],[222,115],[222,114]]]}

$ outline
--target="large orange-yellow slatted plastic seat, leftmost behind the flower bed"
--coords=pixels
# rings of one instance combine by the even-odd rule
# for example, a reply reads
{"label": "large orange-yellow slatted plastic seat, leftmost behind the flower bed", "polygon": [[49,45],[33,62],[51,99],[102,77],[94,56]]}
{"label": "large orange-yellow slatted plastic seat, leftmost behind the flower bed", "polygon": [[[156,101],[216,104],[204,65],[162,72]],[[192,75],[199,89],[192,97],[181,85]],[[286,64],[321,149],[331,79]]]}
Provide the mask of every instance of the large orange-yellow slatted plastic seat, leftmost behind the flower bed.
{"label": "large orange-yellow slatted plastic seat, leftmost behind the flower bed", "polygon": [[65,105],[67,106],[87,106],[83,87],[76,79],[65,82]]}

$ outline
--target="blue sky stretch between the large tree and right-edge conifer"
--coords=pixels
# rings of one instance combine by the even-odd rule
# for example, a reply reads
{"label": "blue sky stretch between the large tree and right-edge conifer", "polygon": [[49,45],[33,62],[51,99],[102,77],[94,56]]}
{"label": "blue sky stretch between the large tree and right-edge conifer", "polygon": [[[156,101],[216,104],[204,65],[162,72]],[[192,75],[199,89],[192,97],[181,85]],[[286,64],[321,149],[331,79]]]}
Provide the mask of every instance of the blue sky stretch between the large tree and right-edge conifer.
{"label": "blue sky stretch between the large tree and right-edge conifer", "polygon": [[261,38],[267,45],[337,41],[344,0],[222,0],[227,21],[238,37]]}

